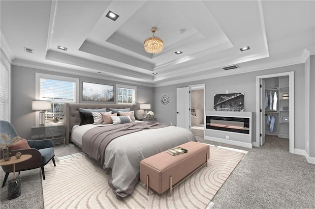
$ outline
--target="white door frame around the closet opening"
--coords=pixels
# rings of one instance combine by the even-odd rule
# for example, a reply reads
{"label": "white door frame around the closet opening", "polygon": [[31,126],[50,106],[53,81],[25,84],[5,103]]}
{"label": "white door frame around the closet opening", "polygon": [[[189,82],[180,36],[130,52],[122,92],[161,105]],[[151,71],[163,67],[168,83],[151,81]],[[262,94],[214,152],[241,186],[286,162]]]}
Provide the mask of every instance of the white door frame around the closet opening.
{"label": "white door frame around the closet opening", "polygon": [[289,152],[294,154],[294,71],[256,76],[256,141],[253,146],[260,146],[260,79],[289,76]]}

